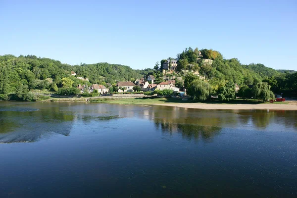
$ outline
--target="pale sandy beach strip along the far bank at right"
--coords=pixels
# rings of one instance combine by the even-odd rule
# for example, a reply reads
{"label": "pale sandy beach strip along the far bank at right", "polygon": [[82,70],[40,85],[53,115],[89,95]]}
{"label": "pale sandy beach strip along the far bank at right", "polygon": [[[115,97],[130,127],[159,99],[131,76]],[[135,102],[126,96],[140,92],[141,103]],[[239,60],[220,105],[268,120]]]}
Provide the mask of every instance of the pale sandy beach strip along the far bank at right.
{"label": "pale sandy beach strip along the far bank at right", "polygon": [[156,103],[155,105],[176,106],[198,109],[271,109],[271,110],[297,110],[296,104],[208,104],[208,103]]}

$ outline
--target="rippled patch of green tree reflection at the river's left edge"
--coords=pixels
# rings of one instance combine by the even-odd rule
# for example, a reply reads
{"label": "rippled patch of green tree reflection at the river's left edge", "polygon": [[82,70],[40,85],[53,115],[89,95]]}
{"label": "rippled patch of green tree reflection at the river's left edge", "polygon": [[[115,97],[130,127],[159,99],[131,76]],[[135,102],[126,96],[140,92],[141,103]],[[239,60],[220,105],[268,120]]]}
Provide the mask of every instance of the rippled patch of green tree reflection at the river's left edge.
{"label": "rippled patch of green tree reflection at the river's left edge", "polygon": [[42,136],[68,136],[74,114],[59,107],[40,111],[0,111],[0,143],[35,142]]}

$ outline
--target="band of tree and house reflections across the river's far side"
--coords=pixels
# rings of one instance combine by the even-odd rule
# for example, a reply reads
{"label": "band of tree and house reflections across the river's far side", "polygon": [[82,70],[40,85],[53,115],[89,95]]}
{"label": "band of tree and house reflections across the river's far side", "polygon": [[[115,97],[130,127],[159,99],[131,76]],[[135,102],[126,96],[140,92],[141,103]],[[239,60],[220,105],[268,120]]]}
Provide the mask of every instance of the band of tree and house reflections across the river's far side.
{"label": "band of tree and house reflections across the river's far side", "polygon": [[185,139],[210,139],[222,128],[267,131],[297,131],[297,111],[203,110],[169,106],[116,105],[99,103],[0,103],[0,143],[34,142],[41,137],[68,136],[73,126],[82,130],[109,127],[106,122],[132,118],[151,120],[163,133],[180,133]]}

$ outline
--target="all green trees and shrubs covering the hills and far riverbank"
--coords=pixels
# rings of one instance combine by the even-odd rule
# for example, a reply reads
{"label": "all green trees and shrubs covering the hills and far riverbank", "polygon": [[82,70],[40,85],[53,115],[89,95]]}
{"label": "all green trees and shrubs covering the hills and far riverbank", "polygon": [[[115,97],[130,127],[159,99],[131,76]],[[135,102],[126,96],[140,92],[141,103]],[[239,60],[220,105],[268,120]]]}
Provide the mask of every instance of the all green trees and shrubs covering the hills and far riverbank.
{"label": "all green trees and shrubs covering the hills and far riverbank", "polygon": [[[173,58],[169,58],[173,59]],[[274,70],[263,64],[241,64],[236,58],[224,59],[212,49],[188,48],[177,54],[176,71],[161,71],[156,63],[154,69],[134,70],[129,66],[108,63],[69,65],[58,60],[35,55],[0,56],[0,100],[41,100],[47,98],[36,90],[52,92],[62,96],[99,96],[99,93],[80,93],[76,87],[81,84],[106,86],[110,93],[117,93],[115,83],[134,81],[144,75],[153,75],[155,83],[164,79],[175,79],[175,86],[185,88],[194,100],[232,101],[258,99],[266,101],[274,94],[297,96],[297,73],[292,70]],[[72,72],[76,76],[71,75]],[[80,79],[77,77],[81,77]],[[88,81],[82,80],[87,79]],[[238,86],[238,88],[236,88]],[[141,93],[135,86],[135,93]],[[239,90],[238,90],[239,89]],[[146,95],[171,96],[172,90],[155,90]]]}

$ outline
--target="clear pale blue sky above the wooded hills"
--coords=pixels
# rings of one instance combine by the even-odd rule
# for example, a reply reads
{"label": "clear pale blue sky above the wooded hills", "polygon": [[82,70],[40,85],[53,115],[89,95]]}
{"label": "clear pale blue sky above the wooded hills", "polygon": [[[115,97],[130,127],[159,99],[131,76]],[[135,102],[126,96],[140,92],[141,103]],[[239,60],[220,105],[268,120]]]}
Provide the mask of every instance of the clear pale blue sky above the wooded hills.
{"label": "clear pale blue sky above the wooded hills", "polygon": [[0,0],[0,55],[68,64],[152,68],[198,47],[297,70],[296,37],[297,0]]}

